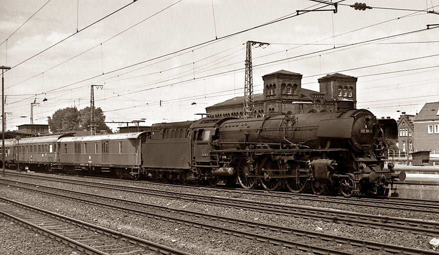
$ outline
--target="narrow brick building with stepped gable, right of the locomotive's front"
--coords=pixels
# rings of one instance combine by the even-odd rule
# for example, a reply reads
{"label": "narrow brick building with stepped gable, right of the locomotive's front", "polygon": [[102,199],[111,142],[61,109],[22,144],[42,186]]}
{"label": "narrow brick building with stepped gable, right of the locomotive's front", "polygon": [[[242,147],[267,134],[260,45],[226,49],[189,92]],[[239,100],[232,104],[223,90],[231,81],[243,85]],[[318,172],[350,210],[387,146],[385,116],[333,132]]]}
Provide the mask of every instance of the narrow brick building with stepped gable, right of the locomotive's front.
{"label": "narrow brick building with stepped gable, right of the locomotive's front", "polygon": [[398,140],[396,146],[402,152],[414,152],[415,148],[415,124],[414,124],[415,115],[406,114],[406,112],[402,112],[399,117],[398,124]]}

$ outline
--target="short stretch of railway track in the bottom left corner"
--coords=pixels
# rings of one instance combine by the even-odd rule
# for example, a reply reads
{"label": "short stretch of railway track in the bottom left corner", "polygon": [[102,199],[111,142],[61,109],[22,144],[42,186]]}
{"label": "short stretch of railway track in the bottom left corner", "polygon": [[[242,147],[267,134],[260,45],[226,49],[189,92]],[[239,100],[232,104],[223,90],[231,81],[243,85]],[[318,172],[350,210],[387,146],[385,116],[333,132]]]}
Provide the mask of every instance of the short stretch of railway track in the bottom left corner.
{"label": "short stretch of railway track in the bottom left corner", "polygon": [[79,251],[92,255],[157,253],[191,255],[170,247],[105,229],[23,203],[0,198],[0,214]]}

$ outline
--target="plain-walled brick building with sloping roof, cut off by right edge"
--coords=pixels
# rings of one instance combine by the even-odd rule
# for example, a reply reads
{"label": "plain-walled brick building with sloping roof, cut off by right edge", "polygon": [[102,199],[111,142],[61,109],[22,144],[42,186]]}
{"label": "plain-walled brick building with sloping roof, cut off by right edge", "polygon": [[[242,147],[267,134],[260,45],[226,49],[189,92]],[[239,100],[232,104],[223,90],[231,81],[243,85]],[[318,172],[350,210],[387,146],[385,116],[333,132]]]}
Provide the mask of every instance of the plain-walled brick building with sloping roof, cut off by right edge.
{"label": "plain-walled brick building with sloping roof, cut off by right edge", "polygon": [[439,154],[439,102],[426,103],[414,119],[416,151]]}

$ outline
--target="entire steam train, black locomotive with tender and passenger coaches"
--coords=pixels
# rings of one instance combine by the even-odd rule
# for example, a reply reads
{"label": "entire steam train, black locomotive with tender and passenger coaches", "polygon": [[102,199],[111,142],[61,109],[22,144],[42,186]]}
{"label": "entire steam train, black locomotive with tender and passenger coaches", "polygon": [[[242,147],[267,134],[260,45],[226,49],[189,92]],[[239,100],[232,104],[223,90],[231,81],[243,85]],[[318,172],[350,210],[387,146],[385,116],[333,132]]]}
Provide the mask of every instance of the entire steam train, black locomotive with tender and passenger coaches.
{"label": "entire steam train, black locomotive with tender and passenger coaches", "polygon": [[[393,171],[393,163],[383,170],[387,139],[397,139],[396,121],[377,119],[366,109],[271,113],[160,123],[149,132],[24,138],[18,147],[8,141],[12,153],[6,162],[70,173],[114,171],[156,182],[238,182],[244,189],[261,185],[267,191],[285,187],[294,193],[311,187],[317,195],[339,191],[351,197],[383,195],[394,179],[405,179],[404,172]],[[33,151],[27,144],[39,150],[30,145],[38,140],[48,143],[42,144],[43,156],[53,154],[46,161],[29,159]]]}

